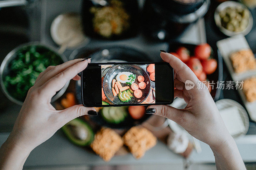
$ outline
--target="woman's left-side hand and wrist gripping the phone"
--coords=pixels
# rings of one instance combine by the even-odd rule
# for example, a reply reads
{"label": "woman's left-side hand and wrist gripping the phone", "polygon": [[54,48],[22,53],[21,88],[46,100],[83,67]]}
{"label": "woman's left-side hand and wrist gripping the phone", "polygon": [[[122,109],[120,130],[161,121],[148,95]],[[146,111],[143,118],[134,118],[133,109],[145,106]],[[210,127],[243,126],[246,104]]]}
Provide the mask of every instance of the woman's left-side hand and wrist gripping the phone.
{"label": "woman's left-side hand and wrist gripping the phone", "polygon": [[[70,79],[79,80],[80,77],[77,73],[84,70],[88,63],[90,63],[90,59],[71,60],[58,66],[49,66],[40,73],[35,85],[28,91],[10,136],[0,149],[0,169],[1,166],[10,169],[22,168],[28,154],[36,146],[52,137],[67,122],[86,115],[88,112],[97,114],[95,108],[83,105],[76,105],[64,110],[56,110],[51,105],[51,99],[55,93]],[[6,148],[9,151],[6,151]],[[20,154],[23,153],[25,158],[7,161],[15,156],[16,151],[21,152],[18,156],[22,157]],[[20,159],[22,159],[21,162],[19,162]],[[19,165],[8,166],[13,164]]]}

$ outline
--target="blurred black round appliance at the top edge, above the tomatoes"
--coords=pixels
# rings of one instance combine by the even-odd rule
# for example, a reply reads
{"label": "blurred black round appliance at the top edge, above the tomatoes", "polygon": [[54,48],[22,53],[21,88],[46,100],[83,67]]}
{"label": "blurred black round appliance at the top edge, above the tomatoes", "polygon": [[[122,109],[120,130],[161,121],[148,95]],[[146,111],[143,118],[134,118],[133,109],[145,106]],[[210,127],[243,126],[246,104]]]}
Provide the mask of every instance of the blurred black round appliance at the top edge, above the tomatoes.
{"label": "blurred black round appliance at the top edge, above the tomatoes", "polygon": [[202,18],[209,5],[210,0],[146,0],[143,9],[145,33],[158,41],[173,39]]}

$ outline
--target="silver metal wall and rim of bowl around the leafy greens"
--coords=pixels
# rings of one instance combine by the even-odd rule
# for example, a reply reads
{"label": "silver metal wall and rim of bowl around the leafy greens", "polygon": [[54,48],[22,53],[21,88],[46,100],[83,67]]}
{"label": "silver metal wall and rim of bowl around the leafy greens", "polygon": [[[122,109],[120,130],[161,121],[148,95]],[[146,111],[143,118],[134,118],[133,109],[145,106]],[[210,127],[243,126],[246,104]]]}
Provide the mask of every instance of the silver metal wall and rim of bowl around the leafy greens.
{"label": "silver metal wall and rim of bowl around the leafy greens", "polygon": [[[54,53],[58,54],[61,58],[61,60],[64,62],[67,62],[68,59],[64,56],[64,55],[60,55],[57,50],[49,45],[46,45],[46,44],[43,44],[41,42],[29,42],[29,43],[26,43],[26,44],[22,44],[16,48],[14,48],[10,53],[8,53],[6,55],[6,57],[4,58],[2,64],[1,64],[1,67],[0,67],[0,84],[1,84],[1,87],[2,87],[2,90],[5,94],[5,96],[11,100],[12,102],[18,104],[18,105],[22,105],[23,104],[23,101],[20,101],[20,100],[17,100],[15,99],[14,97],[11,96],[11,94],[7,91],[7,89],[5,88],[4,86],[4,76],[8,74],[9,72],[9,63],[16,57],[16,52],[20,49],[20,48],[24,48],[24,47],[28,47],[28,46],[31,46],[31,45],[35,45],[35,46],[43,46],[45,48],[48,48],[49,50],[53,51]],[[52,97],[52,102],[57,100],[58,98],[60,98],[60,96],[63,95],[63,93],[67,90],[68,88],[68,85],[69,85],[69,81],[64,85],[64,87],[62,87],[62,89],[60,89],[60,91],[58,91],[53,97]]]}

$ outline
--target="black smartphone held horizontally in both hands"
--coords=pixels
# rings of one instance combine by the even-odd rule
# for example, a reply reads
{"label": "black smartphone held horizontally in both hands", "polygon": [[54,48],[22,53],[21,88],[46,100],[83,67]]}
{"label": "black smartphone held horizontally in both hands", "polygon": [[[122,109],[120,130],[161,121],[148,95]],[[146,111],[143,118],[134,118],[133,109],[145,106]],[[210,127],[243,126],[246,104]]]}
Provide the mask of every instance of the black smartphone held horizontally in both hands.
{"label": "black smartphone held horizontally in both hands", "polygon": [[81,73],[85,107],[168,105],[173,102],[173,69],[166,62],[89,63]]}

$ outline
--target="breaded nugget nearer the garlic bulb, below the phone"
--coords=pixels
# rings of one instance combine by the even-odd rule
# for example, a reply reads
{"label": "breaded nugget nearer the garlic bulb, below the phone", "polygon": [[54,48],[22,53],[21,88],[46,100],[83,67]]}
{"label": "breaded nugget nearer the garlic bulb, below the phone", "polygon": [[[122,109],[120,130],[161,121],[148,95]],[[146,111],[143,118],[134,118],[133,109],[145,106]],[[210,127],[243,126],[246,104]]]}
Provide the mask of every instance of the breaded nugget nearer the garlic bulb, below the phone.
{"label": "breaded nugget nearer the garlic bulb, below the phone", "polygon": [[156,137],[142,127],[132,127],[124,134],[123,139],[136,159],[143,157],[147,150],[156,145]]}

